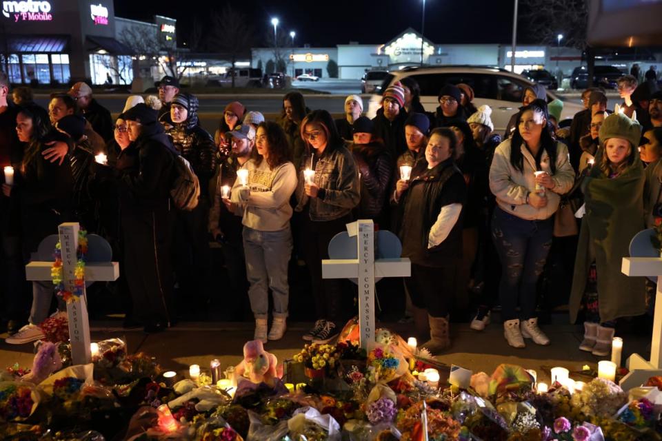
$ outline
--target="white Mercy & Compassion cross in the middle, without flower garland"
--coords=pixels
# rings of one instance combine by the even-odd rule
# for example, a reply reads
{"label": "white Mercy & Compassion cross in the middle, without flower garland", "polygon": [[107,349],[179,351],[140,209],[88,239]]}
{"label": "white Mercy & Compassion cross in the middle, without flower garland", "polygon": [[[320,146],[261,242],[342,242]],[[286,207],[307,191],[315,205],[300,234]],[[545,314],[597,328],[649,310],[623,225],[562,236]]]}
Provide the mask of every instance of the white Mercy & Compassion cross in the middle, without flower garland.
{"label": "white Mercy & Compassion cross in the middle, without flower garland", "polygon": [[348,234],[357,236],[357,258],[322,260],[322,278],[356,278],[359,282],[359,338],[368,349],[374,342],[374,279],[409,277],[409,258],[374,260],[374,223],[362,219],[347,225]]}

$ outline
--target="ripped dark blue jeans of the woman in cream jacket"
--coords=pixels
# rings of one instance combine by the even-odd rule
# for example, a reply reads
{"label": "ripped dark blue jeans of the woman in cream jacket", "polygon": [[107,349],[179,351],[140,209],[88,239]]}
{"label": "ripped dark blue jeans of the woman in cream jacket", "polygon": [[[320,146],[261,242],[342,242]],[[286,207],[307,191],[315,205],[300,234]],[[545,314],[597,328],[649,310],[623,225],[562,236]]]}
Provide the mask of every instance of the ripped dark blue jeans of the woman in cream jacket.
{"label": "ripped dark blue jeans of the woman in cream jacket", "polygon": [[501,259],[499,300],[504,322],[536,317],[536,283],[552,246],[553,229],[554,216],[525,220],[499,207],[494,209],[492,240]]}

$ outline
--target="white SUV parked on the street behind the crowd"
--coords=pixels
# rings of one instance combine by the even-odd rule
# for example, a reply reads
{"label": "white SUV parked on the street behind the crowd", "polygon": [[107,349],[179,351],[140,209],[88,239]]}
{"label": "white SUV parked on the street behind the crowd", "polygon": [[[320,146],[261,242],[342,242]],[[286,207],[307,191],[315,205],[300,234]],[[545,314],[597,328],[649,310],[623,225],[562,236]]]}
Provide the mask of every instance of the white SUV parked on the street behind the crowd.
{"label": "white SUV parked on the street behind the crowd", "polygon": [[[425,111],[434,112],[439,107],[437,96],[445,84],[465,83],[474,90],[472,103],[479,107],[487,104],[492,107],[492,123],[494,132],[503,134],[508,125],[510,116],[517,112],[522,103],[522,94],[527,85],[533,83],[523,76],[512,74],[508,70],[498,68],[483,68],[477,66],[448,66],[443,68],[405,68],[396,72],[389,72],[385,77],[381,89],[370,98],[368,117],[374,118],[381,107],[381,94],[390,85],[405,77],[411,77],[421,87],[421,104]],[[572,119],[572,116],[583,110],[581,104],[565,101],[548,91],[548,102],[559,98],[563,101],[561,120]],[[579,101],[579,99],[577,100]],[[560,123],[561,121],[559,121]]]}

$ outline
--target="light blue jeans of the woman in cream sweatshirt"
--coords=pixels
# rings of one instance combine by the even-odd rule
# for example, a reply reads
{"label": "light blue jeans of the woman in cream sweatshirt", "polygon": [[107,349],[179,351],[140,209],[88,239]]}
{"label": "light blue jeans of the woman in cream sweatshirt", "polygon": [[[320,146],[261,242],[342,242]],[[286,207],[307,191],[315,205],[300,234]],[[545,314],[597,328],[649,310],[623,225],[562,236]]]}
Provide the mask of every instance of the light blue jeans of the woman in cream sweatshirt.
{"label": "light blue jeans of the woman in cream sweatshirt", "polygon": [[292,230],[289,225],[278,232],[261,232],[243,227],[246,276],[250,283],[248,298],[255,318],[267,318],[269,291],[274,298],[274,317],[288,316],[288,264],[292,254]]}

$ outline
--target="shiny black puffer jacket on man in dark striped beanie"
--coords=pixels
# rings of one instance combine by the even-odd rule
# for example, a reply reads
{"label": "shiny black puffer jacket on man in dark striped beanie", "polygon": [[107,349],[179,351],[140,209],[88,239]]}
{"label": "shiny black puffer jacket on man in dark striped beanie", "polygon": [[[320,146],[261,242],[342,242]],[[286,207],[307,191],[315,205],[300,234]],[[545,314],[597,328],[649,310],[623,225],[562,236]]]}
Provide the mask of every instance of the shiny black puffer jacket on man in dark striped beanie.
{"label": "shiny black puffer jacket on man in dark striped beanie", "polygon": [[190,162],[193,172],[200,180],[200,196],[206,198],[209,194],[209,181],[216,172],[217,147],[212,136],[200,127],[198,106],[197,97],[191,95],[188,119],[175,124],[167,133],[172,138],[174,148]]}

